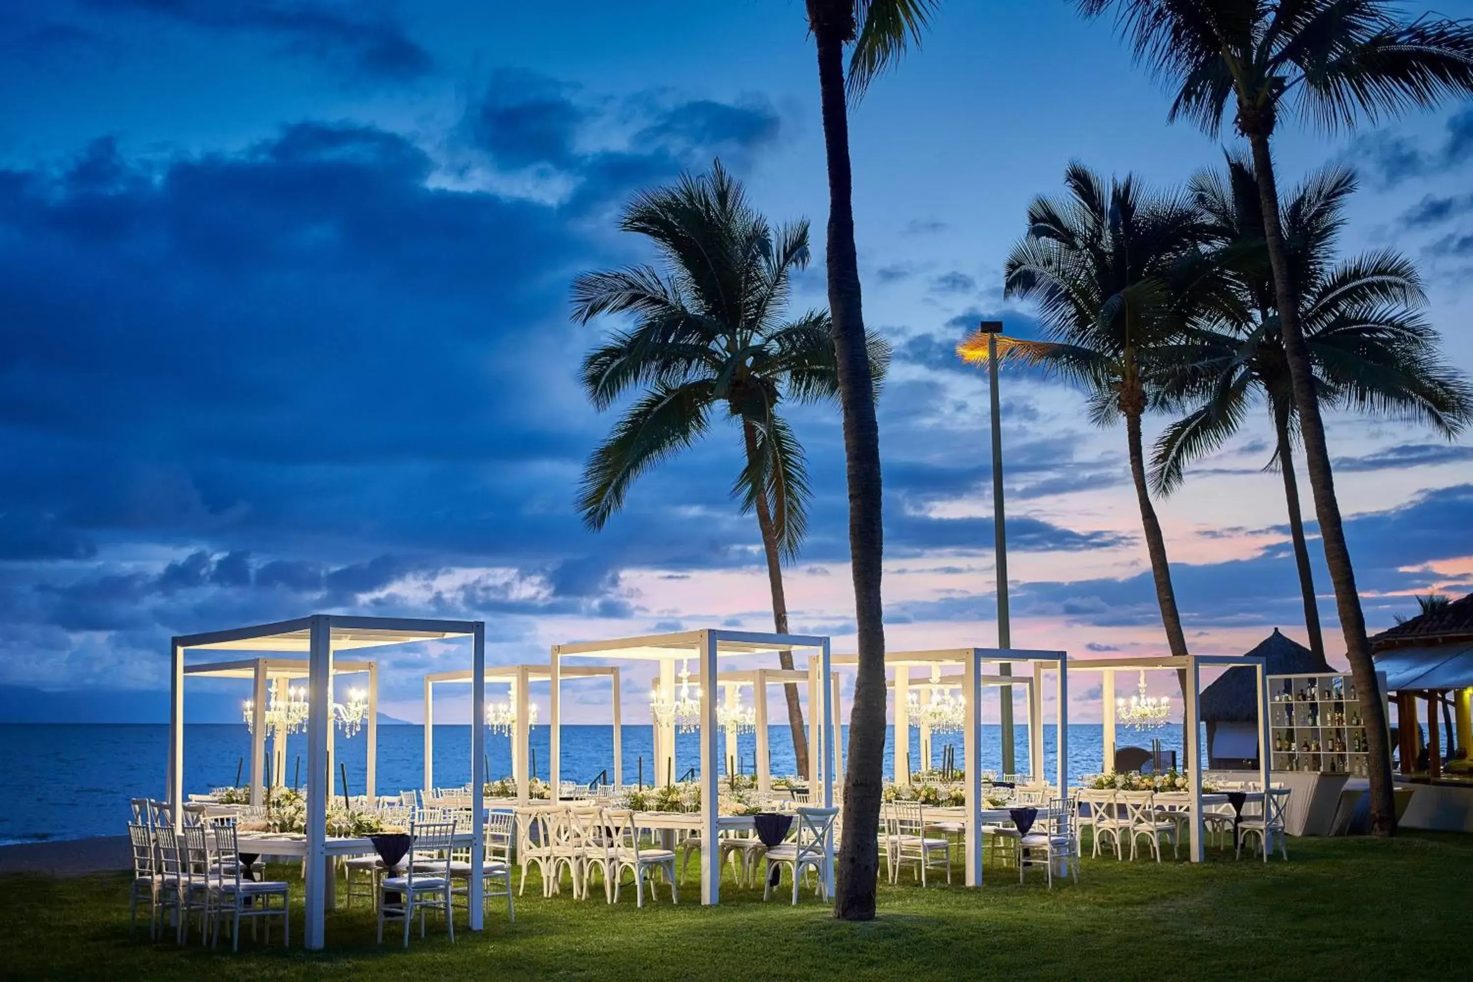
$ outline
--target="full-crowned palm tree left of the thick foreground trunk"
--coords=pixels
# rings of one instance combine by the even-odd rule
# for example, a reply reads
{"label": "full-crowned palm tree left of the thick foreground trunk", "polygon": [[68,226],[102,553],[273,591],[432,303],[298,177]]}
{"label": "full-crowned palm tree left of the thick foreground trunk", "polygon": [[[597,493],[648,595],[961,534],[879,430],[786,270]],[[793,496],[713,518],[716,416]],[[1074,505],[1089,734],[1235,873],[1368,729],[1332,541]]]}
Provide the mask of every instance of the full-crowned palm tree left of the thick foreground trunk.
{"label": "full-crowned palm tree left of the thick foreground trunk", "polygon": [[[772,228],[717,160],[707,175],[682,175],[672,187],[638,194],[620,228],[647,236],[664,272],[632,266],[573,281],[574,321],[604,314],[635,319],[632,330],[614,331],[583,359],[588,398],[607,409],[641,390],[589,458],[579,511],[592,529],[602,529],[639,474],[692,446],[725,409],[742,439],[732,495],[744,514],[757,514],[772,618],[784,635],[782,561],[803,543],[810,490],[803,448],[779,408],[838,396],[828,314],[782,319],[792,274],[809,264],[809,225]],[[890,349],[871,339],[868,350],[878,383]],[[779,658],[792,668],[791,652]],[[791,683],[784,689],[792,752],[798,771],[809,773],[798,690]]]}

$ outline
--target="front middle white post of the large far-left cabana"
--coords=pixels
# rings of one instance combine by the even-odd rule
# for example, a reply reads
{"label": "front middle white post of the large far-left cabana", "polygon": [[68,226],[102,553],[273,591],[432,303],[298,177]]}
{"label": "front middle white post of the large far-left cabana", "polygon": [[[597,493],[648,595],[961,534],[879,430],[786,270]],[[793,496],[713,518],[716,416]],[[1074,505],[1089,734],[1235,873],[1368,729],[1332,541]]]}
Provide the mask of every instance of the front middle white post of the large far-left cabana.
{"label": "front middle white post of the large far-left cabana", "polygon": [[323,614],[311,617],[308,658],[306,717],[306,947],[320,950],[327,911],[327,795],[331,776],[327,766],[331,720],[333,637],[331,621]]}

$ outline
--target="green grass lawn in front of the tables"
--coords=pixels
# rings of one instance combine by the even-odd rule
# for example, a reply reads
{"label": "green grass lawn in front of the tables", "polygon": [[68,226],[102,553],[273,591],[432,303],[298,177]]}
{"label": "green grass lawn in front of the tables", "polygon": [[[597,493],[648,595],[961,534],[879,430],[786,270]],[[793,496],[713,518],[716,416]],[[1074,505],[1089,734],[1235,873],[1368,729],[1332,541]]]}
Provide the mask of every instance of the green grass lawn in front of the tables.
{"label": "green grass lawn in front of the tables", "polygon": [[[486,930],[443,925],[409,950],[374,941],[371,913],[328,913],[326,951],[242,939],[240,954],[130,936],[124,875],[57,880],[0,877],[0,966],[21,978],[189,979],[1368,979],[1460,978],[1467,972],[1467,904],[1473,836],[1404,833],[1392,841],[1293,839],[1290,861],[1117,863],[1084,860],[1078,885],[1044,889],[1041,873],[1019,886],[988,867],[981,891],[909,879],[881,886],[881,916],[838,923],[806,894],[792,908],[759,889],[722,888],[722,905],[698,905],[692,880],[682,904],[635,908],[544,900],[529,877],[508,925],[493,907]],[[293,867],[293,939],[302,891]],[[694,873],[694,863],[692,863]],[[956,870],[960,882],[960,869]],[[464,925],[464,920],[458,926]],[[280,935],[275,935],[277,938]]]}

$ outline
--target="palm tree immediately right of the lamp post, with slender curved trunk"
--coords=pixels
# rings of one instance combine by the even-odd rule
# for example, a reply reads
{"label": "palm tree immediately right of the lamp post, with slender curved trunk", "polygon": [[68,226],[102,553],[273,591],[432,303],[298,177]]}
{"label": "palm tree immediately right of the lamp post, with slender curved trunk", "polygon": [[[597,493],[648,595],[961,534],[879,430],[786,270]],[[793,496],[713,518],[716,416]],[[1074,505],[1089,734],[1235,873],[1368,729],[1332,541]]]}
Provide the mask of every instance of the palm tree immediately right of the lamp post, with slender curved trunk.
{"label": "palm tree immediately right of the lamp post, with slender curved trunk", "polygon": [[[1037,300],[1052,340],[1008,339],[999,358],[1083,386],[1099,425],[1124,417],[1161,623],[1171,654],[1186,655],[1167,543],[1146,484],[1142,417],[1159,399],[1159,378],[1180,358],[1193,305],[1214,280],[1199,249],[1206,227],[1184,196],[1152,194],[1131,177],[1106,187],[1071,163],[1065,184],[1066,197],[1038,197],[1028,208],[1028,234],[1006,266],[1006,294]],[[959,350],[985,362],[987,339],[974,336]]]}

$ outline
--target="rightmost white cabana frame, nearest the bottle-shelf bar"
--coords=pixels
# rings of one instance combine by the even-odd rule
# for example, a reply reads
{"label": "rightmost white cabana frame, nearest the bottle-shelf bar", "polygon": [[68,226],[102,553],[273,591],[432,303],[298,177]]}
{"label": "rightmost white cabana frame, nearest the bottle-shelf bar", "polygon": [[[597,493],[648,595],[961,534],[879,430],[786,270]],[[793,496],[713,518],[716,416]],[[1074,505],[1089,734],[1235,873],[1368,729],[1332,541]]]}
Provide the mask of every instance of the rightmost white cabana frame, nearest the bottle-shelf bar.
{"label": "rightmost white cabana frame, nearest the bottle-shelf bar", "polygon": [[1100,683],[1100,701],[1105,704],[1103,714],[1103,767],[1115,769],[1115,673],[1140,671],[1183,671],[1186,673],[1184,690],[1190,693],[1183,699],[1181,742],[1184,743],[1183,767],[1187,771],[1187,792],[1192,795],[1190,848],[1187,849],[1193,863],[1200,863],[1205,855],[1205,841],[1202,835],[1202,668],[1252,668],[1258,690],[1258,777],[1267,791],[1268,782],[1268,682],[1264,676],[1264,660],[1255,655],[1143,655],[1130,658],[1080,658],[1071,663],[1072,671],[1099,671],[1103,674]]}

